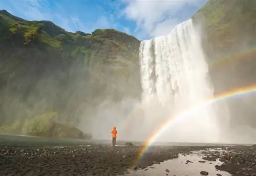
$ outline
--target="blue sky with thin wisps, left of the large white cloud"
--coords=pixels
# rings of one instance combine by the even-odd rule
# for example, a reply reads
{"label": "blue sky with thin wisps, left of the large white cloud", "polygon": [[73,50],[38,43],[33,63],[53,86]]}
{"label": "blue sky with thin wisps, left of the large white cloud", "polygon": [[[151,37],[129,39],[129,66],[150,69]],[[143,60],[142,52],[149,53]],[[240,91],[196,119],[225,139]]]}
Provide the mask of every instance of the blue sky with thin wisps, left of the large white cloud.
{"label": "blue sky with thin wisps, left of the large white cloud", "polygon": [[114,28],[131,34],[129,27],[119,21],[120,3],[50,0],[8,0],[4,8],[12,14],[28,20],[49,20],[70,31],[91,33],[95,29]]}

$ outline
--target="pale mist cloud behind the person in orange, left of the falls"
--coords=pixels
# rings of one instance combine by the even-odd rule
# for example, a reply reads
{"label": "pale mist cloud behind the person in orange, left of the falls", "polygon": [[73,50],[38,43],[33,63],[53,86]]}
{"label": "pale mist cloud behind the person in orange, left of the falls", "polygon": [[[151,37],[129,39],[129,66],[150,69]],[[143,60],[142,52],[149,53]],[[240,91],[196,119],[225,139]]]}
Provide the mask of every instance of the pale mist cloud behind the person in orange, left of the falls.
{"label": "pale mist cloud behind the person in orange, left of the falls", "polygon": [[141,125],[139,116],[131,121],[139,105],[140,102],[136,99],[126,98],[118,103],[106,99],[89,119],[86,116],[81,118],[79,127],[92,133],[94,139],[109,140],[110,132],[115,126],[118,129],[118,139],[130,139]]}

